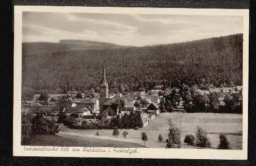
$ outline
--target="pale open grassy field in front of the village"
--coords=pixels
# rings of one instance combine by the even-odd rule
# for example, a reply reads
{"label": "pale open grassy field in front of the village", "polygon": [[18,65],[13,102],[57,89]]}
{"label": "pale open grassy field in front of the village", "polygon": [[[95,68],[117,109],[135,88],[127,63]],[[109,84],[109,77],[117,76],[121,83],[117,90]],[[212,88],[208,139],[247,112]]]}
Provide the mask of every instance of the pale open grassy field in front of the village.
{"label": "pale open grassy field in front of the village", "polygon": [[[157,142],[159,134],[162,134],[164,140],[168,136],[168,119],[180,127],[181,122],[181,141],[182,148],[195,148],[186,146],[183,142],[186,134],[195,135],[196,127],[204,127],[208,132],[208,137],[212,143],[212,148],[218,146],[218,135],[222,132],[226,134],[230,141],[230,146],[234,150],[242,149],[242,115],[241,114],[213,114],[213,113],[162,113],[159,117],[153,119],[147,126],[139,128],[139,130],[128,129],[129,134],[127,139],[141,139],[141,132],[146,132],[148,140],[147,147],[151,148],[165,148],[166,143]],[[95,135],[97,131],[101,136],[114,137],[112,130],[76,130],[67,127],[62,127],[64,132],[77,132],[86,135]],[[122,133],[124,130],[119,130],[119,138],[123,138]],[[104,140],[105,142],[106,140]],[[76,144],[76,143],[73,143]],[[92,142],[93,144],[93,142]],[[96,143],[99,146],[98,143]],[[91,145],[90,145],[91,146]],[[105,147],[105,146],[104,146]],[[125,147],[125,145],[123,145]]]}

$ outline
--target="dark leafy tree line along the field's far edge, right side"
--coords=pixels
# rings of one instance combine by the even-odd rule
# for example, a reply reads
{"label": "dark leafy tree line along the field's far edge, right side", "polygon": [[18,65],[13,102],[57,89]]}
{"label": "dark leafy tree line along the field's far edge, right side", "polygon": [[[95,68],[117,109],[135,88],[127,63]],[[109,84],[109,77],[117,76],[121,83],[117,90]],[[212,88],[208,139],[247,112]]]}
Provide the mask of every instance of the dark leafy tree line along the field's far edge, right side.
{"label": "dark leafy tree line along the field's far edge, right side", "polygon": [[166,89],[159,92],[163,98],[160,101],[159,109],[161,112],[172,111],[183,101],[186,111],[193,112],[224,112],[224,113],[242,113],[242,91],[238,93],[225,94],[220,106],[218,94],[204,94],[198,91],[198,87],[193,85],[181,85],[178,88]]}

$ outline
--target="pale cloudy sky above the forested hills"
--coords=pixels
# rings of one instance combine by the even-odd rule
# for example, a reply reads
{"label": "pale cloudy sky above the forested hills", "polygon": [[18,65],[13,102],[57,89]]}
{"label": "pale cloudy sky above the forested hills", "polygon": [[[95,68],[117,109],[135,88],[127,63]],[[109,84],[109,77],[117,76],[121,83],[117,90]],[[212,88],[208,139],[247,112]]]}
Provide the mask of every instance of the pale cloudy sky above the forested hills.
{"label": "pale cloudy sky above the forested hills", "polygon": [[242,16],[49,12],[22,14],[22,42],[79,39],[144,46],[242,32]]}

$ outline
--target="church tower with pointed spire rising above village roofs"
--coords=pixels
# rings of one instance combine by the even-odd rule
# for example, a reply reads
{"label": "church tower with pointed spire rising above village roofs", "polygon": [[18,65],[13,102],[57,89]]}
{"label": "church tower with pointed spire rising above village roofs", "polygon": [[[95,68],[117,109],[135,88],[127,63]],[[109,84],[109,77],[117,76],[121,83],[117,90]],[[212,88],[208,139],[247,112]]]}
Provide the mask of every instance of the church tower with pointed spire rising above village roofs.
{"label": "church tower with pointed spire rising above village roofs", "polygon": [[108,82],[106,81],[106,73],[105,73],[105,67],[104,67],[103,76],[100,82],[100,105],[107,102],[108,99],[109,99],[109,86],[108,86]]}

